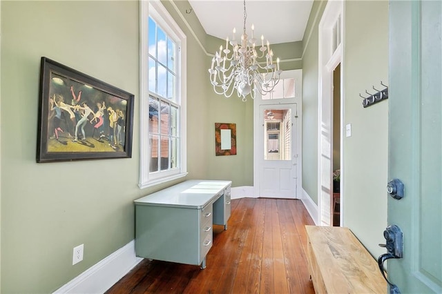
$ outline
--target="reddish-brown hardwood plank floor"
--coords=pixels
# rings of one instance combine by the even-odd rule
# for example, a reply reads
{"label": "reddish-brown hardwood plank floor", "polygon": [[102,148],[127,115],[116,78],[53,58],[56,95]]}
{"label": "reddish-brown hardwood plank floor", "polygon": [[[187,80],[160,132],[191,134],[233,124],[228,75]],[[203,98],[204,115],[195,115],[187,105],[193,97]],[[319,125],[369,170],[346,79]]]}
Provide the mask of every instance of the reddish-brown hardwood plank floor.
{"label": "reddish-brown hardwood plank floor", "polygon": [[206,268],[144,259],[106,293],[314,293],[300,200],[231,202],[229,227],[213,226]]}

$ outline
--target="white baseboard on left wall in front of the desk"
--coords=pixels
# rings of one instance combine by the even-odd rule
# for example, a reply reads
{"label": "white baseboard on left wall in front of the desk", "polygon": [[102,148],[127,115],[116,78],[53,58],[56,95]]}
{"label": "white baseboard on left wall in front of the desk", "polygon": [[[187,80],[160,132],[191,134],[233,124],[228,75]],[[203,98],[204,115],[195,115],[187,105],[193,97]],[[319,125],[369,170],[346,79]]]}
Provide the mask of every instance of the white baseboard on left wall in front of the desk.
{"label": "white baseboard on left wall in front of the desk", "polygon": [[135,240],[132,240],[54,293],[104,293],[142,260],[135,256]]}

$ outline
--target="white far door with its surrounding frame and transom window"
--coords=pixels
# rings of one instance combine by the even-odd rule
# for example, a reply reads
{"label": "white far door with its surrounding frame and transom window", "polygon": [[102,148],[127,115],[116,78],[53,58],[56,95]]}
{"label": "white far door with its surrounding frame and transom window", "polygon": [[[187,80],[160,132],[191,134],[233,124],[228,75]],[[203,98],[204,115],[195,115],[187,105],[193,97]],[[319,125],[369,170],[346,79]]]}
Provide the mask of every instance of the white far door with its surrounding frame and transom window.
{"label": "white far door with its surrounding frame and transom window", "polygon": [[254,197],[298,198],[302,167],[302,70],[285,70],[253,100]]}

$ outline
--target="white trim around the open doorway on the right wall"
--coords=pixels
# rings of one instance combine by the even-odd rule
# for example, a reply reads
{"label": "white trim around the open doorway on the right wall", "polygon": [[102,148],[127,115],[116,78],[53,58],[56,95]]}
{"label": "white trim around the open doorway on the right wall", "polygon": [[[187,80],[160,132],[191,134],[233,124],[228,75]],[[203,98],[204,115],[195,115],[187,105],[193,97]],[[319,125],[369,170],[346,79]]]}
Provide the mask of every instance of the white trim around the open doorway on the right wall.
{"label": "white trim around the open doorway on the right wall", "polygon": [[[327,1],[318,26],[318,225],[332,226],[333,71],[340,63],[340,178],[343,179],[344,1]],[[339,21],[338,21],[339,20]],[[334,25],[340,43],[332,52]],[[343,226],[343,182],[340,182],[340,226]]]}

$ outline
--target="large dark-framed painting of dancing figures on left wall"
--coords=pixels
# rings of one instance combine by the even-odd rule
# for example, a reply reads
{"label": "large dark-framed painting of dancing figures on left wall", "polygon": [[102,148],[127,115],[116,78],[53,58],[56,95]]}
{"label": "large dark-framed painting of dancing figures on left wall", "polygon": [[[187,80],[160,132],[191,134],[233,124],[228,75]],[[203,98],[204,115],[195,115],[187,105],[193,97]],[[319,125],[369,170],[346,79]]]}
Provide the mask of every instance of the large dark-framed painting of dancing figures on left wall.
{"label": "large dark-framed painting of dancing figures on left wall", "polygon": [[133,99],[41,57],[37,162],[132,156]]}

